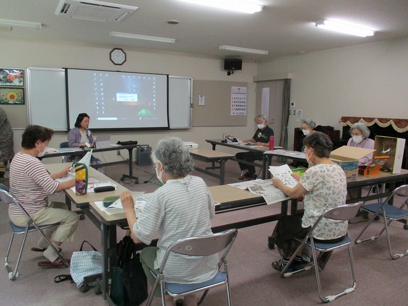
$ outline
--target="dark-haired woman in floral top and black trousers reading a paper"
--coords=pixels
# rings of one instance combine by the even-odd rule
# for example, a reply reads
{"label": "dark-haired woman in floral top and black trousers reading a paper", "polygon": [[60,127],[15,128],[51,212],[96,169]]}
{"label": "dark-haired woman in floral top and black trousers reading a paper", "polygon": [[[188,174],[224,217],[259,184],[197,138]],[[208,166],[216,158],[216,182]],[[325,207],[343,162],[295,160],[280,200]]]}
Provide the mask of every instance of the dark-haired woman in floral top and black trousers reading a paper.
{"label": "dark-haired woman in floral top and black trousers reading a paper", "polygon": [[[283,257],[272,263],[272,267],[278,271],[282,271],[299,245],[293,243],[294,238],[305,237],[311,226],[325,210],[344,205],[346,202],[346,175],[339,165],[329,159],[333,143],[328,136],[321,132],[315,132],[306,137],[303,144],[305,145],[306,159],[314,166],[306,170],[302,177],[293,175],[299,181],[293,188],[285,186],[279,179],[272,179],[273,185],[289,197],[304,196],[303,216],[283,216],[277,222],[272,234],[272,241],[278,246]],[[346,233],[347,221],[327,219],[324,224],[317,227],[314,238],[320,242],[337,242]],[[300,268],[303,263],[300,255],[300,253],[297,254],[288,272]],[[327,260],[328,256],[329,254],[324,260]]]}

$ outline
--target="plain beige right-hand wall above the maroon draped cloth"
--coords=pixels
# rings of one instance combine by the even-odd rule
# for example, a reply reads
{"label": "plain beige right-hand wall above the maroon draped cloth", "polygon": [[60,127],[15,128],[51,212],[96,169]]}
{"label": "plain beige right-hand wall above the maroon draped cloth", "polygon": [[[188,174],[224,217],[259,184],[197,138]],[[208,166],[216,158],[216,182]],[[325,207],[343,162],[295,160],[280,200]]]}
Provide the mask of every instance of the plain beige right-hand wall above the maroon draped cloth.
{"label": "plain beige right-hand wall above the maroon draped cloth", "polygon": [[[278,58],[258,63],[258,74],[292,72],[295,109],[341,130],[342,116],[408,118],[407,59],[404,38]],[[289,148],[298,126],[291,115]]]}

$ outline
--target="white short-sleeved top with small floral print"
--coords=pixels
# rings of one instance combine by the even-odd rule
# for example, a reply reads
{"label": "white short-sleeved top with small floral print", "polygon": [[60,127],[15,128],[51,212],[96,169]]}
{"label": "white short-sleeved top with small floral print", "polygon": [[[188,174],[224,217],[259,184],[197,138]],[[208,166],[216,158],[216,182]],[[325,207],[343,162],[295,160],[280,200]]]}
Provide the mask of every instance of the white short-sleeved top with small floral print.
{"label": "white short-sleeved top with small floral print", "polygon": [[[302,227],[313,226],[325,210],[346,203],[346,175],[337,164],[315,165],[304,172],[299,183],[308,190],[303,198]],[[347,224],[323,218],[313,236],[322,240],[342,237],[347,233]]]}

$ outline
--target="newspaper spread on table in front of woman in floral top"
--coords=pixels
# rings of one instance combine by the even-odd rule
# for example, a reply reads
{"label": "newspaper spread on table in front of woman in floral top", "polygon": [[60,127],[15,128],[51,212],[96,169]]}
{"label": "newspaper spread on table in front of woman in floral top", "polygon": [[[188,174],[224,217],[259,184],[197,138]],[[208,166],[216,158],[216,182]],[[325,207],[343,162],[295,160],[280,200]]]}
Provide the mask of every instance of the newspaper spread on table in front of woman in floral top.
{"label": "newspaper spread on table in front of woman in floral top", "polygon": [[252,180],[228,185],[242,190],[249,190],[252,193],[261,195],[267,205],[289,199],[289,197],[281,189],[273,186],[272,182],[270,181]]}

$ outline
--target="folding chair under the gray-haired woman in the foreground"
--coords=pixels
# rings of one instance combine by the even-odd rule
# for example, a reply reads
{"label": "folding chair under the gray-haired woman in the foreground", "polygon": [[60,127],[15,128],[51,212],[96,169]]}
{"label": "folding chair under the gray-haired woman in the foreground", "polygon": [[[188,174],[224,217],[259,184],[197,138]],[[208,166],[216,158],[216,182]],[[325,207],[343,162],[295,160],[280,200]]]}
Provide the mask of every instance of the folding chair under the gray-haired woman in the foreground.
{"label": "folding chair under the gray-haired woman in the foreground", "polygon": [[[177,297],[205,290],[200,301],[197,303],[197,305],[199,305],[206,297],[210,288],[221,285],[226,286],[228,306],[231,306],[231,293],[230,283],[228,279],[226,256],[228,251],[230,251],[230,248],[233,245],[235,238],[237,237],[237,233],[238,231],[235,228],[233,228],[231,230],[227,230],[221,233],[180,239],[169,245],[169,247],[166,250],[166,253],[164,254],[163,262],[159,268],[159,273],[156,274],[154,271],[150,270],[150,272],[156,277],[156,282],[153,286],[153,289],[150,292],[146,305],[149,306],[151,304],[151,301],[155,295],[156,288],[157,286],[159,286],[160,283],[163,306],[166,305],[165,300],[166,293],[169,294],[170,296]],[[176,252],[189,256],[209,256],[218,253],[222,250],[224,250],[224,253],[221,257],[221,260],[218,263],[218,272],[209,281],[195,284],[166,283],[163,275],[163,269],[166,265],[167,258],[169,257],[170,252]],[[223,271],[220,270],[221,266],[223,266]]]}

